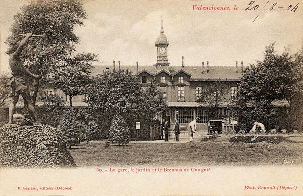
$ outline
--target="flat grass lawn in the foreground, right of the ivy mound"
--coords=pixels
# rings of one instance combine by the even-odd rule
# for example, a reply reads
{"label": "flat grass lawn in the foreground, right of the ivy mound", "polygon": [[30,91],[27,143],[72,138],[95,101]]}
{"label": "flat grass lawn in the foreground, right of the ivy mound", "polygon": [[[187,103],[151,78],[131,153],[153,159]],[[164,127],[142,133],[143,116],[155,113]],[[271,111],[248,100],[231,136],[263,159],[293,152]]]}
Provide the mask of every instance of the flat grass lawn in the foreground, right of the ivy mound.
{"label": "flat grass lawn in the foreground, right of the ivy mound", "polygon": [[[261,143],[130,143],[104,148],[90,143],[70,149],[77,166],[139,165],[302,165],[303,144],[272,144],[262,152]],[[286,163],[285,163],[286,162]],[[290,162],[290,163],[289,163]],[[293,162],[293,163],[292,163]]]}

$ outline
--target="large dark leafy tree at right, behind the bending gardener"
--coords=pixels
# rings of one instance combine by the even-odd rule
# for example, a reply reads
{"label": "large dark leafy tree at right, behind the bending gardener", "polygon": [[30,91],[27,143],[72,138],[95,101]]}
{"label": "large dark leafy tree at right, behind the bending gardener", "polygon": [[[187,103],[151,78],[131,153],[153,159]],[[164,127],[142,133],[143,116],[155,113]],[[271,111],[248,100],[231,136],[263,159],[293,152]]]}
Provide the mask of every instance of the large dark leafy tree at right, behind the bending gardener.
{"label": "large dark leafy tree at right, behind the bending gardener", "polygon": [[[263,61],[257,61],[256,65],[251,65],[244,71],[239,85],[240,105],[249,102],[254,105],[249,109],[251,118],[262,120],[270,128],[270,118],[276,114],[274,101],[286,100],[290,114],[293,113],[294,96],[303,89],[302,74],[302,67],[287,51],[281,55],[276,54],[273,43],[265,48]],[[291,120],[290,116],[288,121]]]}

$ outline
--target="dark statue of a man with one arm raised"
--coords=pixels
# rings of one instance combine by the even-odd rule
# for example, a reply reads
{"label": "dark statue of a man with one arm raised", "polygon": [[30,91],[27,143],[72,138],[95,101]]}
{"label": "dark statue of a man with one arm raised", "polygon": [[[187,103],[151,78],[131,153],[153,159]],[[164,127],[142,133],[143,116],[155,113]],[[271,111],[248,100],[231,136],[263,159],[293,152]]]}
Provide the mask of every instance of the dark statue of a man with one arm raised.
{"label": "dark statue of a man with one arm raised", "polygon": [[13,123],[13,114],[20,95],[23,97],[24,105],[28,107],[29,113],[33,120],[37,121],[36,110],[32,105],[31,96],[28,89],[28,77],[39,79],[40,76],[35,75],[26,69],[20,59],[20,54],[23,47],[31,36],[32,33],[27,33],[20,43],[16,44],[16,49],[13,49],[14,52],[11,54],[9,59],[9,65],[13,75],[13,78],[10,81],[12,88],[12,102],[9,107],[9,124]]}

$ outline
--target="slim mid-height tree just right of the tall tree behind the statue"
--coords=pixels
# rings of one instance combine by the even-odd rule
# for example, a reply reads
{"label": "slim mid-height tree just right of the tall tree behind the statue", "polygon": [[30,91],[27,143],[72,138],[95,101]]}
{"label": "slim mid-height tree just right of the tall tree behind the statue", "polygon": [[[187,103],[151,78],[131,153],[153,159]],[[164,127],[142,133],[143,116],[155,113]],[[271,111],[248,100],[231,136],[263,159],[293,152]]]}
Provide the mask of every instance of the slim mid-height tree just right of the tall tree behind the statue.
{"label": "slim mid-height tree just right of the tall tree behind the statue", "polygon": [[96,61],[94,54],[77,54],[67,58],[64,62],[66,65],[61,65],[54,70],[54,79],[51,83],[69,96],[71,107],[73,96],[83,94],[85,86],[92,81],[90,74],[93,61]]}

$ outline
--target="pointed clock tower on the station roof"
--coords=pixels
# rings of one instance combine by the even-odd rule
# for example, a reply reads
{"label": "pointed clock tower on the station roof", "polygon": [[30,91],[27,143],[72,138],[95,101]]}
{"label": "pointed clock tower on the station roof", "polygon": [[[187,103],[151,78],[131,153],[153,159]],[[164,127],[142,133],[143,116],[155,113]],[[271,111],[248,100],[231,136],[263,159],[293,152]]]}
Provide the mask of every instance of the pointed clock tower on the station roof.
{"label": "pointed clock tower on the station roof", "polygon": [[167,47],[169,45],[169,41],[163,33],[163,21],[161,20],[160,35],[155,42],[155,46],[157,47],[157,63],[155,64],[157,71],[161,71],[162,69],[168,71],[169,66],[167,59]]}

